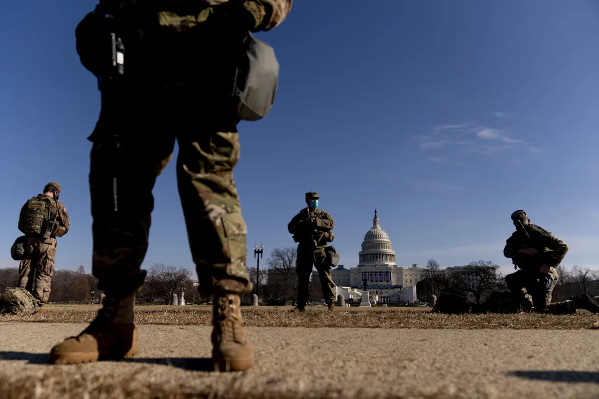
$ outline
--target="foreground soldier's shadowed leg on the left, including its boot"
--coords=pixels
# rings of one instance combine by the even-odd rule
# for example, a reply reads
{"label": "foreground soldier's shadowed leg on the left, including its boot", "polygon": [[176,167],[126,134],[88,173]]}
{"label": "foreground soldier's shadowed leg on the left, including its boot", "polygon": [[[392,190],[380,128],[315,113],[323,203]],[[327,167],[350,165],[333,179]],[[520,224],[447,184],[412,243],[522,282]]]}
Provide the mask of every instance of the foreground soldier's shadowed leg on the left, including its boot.
{"label": "foreground soldier's shadowed leg on the left, including its boot", "polygon": [[[146,118],[156,115],[149,111]],[[141,125],[143,121],[140,118],[134,122]],[[52,348],[51,363],[118,360],[138,352],[134,293],[146,277],[141,262],[147,251],[154,206],[152,188],[174,146],[174,137],[165,137],[168,130],[161,129],[158,122],[157,126],[141,127],[131,121],[126,125],[111,124],[115,130],[122,129],[120,148],[111,141],[110,131],[96,130],[92,135],[92,274],[106,297],[96,318],[79,336]],[[132,138],[126,129],[138,136]],[[140,136],[140,131],[145,136]]]}

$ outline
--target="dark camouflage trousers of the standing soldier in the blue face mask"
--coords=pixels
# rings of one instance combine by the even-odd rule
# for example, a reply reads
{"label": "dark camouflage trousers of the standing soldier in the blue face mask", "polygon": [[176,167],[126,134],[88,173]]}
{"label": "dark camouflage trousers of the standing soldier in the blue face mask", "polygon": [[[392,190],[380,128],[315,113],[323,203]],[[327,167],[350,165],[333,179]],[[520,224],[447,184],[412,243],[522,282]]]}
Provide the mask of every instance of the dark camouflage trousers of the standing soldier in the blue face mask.
{"label": "dark camouflage trousers of the standing soldier in the blue face mask", "polygon": [[[316,262],[314,262],[314,258],[316,258]],[[316,267],[318,272],[322,296],[326,303],[335,301],[335,283],[331,278],[331,266],[327,265],[325,261],[324,248],[318,248],[316,251],[298,248],[298,258],[295,261],[295,272],[298,275],[298,306],[305,306],[308,303],[312,266]]]}

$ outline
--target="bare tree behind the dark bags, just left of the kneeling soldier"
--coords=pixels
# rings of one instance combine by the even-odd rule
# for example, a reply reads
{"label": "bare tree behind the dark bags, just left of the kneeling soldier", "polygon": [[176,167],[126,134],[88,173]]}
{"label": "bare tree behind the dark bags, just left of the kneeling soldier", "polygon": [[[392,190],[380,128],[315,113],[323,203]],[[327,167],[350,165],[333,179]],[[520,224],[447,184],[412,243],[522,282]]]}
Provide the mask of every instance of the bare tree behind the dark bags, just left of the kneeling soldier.
{"label": "bare tree behind the dark bags, just left of the kneeling soldier", "polygon": [[450,275],[451,286],[458,290],[472,293],[476,303],[486,299],[495,291],[506,289],[499,266],[492,261],[473,261],[463,269]]}

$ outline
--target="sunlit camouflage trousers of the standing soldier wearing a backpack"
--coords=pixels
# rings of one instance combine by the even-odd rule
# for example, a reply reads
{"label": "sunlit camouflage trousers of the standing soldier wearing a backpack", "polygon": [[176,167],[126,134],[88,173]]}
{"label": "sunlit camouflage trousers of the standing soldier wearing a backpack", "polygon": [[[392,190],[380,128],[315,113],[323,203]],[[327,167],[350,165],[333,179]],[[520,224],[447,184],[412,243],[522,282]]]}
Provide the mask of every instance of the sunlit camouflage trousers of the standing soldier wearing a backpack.
{"label": "sunlit camouflage trousers of the standing soldier wearing a backpack", "polygon": [[56,239],[28,237],[25,251],[29,255],[19,263],[17,287],[29,291],[40,301],[40,305],[46,304],[50,298],[50,283],[54,275]]}

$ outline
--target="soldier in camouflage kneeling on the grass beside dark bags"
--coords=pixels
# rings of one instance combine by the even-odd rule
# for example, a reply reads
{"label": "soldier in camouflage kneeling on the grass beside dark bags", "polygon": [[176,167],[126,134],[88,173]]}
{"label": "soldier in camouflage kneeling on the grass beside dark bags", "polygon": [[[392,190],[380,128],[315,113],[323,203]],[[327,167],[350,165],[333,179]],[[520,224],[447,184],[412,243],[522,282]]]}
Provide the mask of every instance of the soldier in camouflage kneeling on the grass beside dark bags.
{"label": "soldier in camouflage kneeling on the grass beside dark bags", "polygon": [[599,313],[599,306],[586,294],[551,303],[552,291],[559,278],[556,267],[564,259],[568,245],[531,224],[522,209],[513,212],[512,221],[516,231],[507,239],[503,254],[520,270],[507,275],[506,284],[518,296],[521,308],[552,314],[574,313],[577,308]]}

